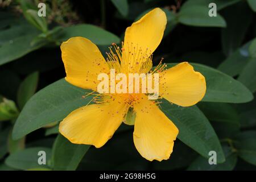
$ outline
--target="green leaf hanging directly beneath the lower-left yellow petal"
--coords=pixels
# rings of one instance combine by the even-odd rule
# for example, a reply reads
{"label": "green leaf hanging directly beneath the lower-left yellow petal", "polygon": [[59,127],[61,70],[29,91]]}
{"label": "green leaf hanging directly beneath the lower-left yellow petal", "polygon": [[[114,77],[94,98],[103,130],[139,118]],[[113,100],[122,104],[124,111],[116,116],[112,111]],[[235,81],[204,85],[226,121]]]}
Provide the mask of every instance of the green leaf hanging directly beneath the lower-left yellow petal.
{"label": "green leaf hanging directly beneath the lower-left yellow petal", "polygon": [[89,145],[85,144],[73,144],[63,135],[58,135],[53,144],[53,169],[76,170],[89,147]]}

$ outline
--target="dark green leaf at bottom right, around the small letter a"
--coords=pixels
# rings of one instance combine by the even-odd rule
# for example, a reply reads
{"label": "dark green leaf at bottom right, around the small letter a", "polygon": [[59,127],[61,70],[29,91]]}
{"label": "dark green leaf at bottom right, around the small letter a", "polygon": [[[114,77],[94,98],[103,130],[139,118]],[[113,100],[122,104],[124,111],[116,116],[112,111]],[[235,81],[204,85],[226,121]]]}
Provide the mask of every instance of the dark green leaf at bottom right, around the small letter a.
{"label": "dark green leaf at bottom right, around the small letter a", "polygon": [[[232,152],[228,146],[223,147],[226,161],[222,164],[210,165],[208,159],[199,156],[188,167],[188,171],[232,171],[237,163],[237,154]],[[208,156],[210,158],[210,156]],[[218,155],[217,155],[218,158]]]}

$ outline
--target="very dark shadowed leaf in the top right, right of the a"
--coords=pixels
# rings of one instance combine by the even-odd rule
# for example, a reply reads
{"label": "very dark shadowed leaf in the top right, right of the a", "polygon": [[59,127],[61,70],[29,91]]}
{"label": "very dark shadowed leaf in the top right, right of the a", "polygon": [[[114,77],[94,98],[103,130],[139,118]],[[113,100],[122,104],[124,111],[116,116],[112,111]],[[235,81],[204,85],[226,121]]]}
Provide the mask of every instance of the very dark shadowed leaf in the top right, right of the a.
{"label": "very dark shadowed leaf in the top right, right of the a", "polygon": [[[241,14],[238,15],[237,12],[241,12]],[[245,2],[241,2],[228,7],[222,15],[227,22],[227,27],[221,30],[222,49],[225,55],[230,55],[241,46],[253,13]],[[242,26],[237,26],[237,24]]]}

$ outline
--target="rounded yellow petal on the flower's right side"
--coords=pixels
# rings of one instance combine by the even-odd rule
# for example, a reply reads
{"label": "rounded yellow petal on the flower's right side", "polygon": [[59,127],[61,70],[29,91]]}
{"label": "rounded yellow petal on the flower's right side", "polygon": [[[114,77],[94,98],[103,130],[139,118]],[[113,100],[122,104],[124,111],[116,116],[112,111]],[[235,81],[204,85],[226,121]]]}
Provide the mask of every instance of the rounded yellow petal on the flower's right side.
{"label": "rounded yellow petal on the flower's right side", "polygon": [[159,77],[160,95],[174,104],[192,106],[201,101],[205,95],[204,76],[195,72],[192,65],[187,62],[166,69]]}

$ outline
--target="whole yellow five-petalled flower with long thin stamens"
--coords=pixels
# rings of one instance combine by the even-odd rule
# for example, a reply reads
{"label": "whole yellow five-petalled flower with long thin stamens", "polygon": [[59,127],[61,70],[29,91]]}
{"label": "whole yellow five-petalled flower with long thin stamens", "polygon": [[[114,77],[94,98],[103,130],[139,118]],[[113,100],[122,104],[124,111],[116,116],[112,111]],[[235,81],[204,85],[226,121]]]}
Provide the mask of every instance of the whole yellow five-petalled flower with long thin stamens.
{"label": "whole yellow five-petalled flower with long thin stamens", "polygon": [[[62,59],[67,77],[76,86],[97,92],[99,73],[115,68],[120,73],[148,73],[152,69],[152,52],[159,46],[166,14],[156,8],[126,29],[122,48],[113,44],[108,58],[90,40],[75,37],[61,44]],[[170,69],[159,64],[152,72],[159,73],[160,98],[180,106],[192,106],[205,94],[205,78],[187,62]],[[142,93],[96,94],[96,104],[72,111],[59,126],[64,137],[76,144],[102,147],[115,130],[125,122],[129,108],[136,117],[133,139],[139,153],[147,160],[170,158],[177,127],[159,109],[158,102],[148,100]]]}

